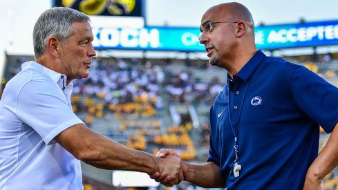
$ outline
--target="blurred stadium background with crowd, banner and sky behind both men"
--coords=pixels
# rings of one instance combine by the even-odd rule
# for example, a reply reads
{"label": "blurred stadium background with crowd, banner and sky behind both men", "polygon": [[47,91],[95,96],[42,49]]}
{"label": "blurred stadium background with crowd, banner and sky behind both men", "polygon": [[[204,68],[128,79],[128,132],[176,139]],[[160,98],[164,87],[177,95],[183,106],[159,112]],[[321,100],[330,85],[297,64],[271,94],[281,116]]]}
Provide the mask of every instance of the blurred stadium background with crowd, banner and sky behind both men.
{"label": "blurred stadium background with crowd, banner and sky behind both men", "polygon": [[[88,127],[133,149],[173,149],[205,162],[209,108],[226,84],[198,43],[205,10],[227,1],[0,0],[0,97],[21,64],[34,60],[32,28],[53,6],[91,15],[97,56],[90,75],[74,81],[73,110]],[[338,86],[337,1],[238,1],[252,12],[256,44],[266,55],[306,66]],[[329,134],[321,130],[320,147]],[[320,149],[321,149],[320,148]],[[320,151],[320,150],[319,150]],[[167,188],[145,173],[108,171],[82,163],[84,189]],[[324,189],[337,189],[338,170]]]}

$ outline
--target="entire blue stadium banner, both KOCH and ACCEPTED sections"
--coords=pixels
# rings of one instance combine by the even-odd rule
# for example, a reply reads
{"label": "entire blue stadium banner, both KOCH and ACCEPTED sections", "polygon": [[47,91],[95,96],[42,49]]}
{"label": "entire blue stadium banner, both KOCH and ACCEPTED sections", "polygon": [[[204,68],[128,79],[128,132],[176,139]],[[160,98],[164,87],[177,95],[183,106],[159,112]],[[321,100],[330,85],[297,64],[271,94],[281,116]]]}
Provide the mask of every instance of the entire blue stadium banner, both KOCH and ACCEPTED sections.
{"label": "entire blue stadium banner, both KOCH and ACCEPTED sections", "polygon": [[[97,50],[205,51],[199,28],[144,27],[93,28]],[[261,50],[338,44],[338,21],[259,26],[256,45]]]}

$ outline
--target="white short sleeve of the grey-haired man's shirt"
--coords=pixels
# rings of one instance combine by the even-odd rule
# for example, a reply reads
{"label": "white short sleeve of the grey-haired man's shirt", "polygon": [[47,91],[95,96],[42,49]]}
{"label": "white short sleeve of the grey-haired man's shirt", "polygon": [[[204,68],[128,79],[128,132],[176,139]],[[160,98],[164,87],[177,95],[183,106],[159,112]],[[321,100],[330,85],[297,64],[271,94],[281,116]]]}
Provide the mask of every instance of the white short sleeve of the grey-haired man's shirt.
{"label": "white short sleeve of the grey-haired man's shirt", "polygon": [[68,105],[57,84],[48,79],[32,79],[18,94],[15,114],[31,126],[46,144],[70,126],[83,123]]}

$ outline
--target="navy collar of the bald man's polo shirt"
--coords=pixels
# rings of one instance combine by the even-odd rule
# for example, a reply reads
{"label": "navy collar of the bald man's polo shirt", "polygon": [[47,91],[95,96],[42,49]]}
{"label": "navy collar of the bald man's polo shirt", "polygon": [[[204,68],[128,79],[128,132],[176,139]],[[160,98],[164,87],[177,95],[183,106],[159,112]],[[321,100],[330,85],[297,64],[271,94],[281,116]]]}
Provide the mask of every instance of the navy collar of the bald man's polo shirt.
{"label": "navy collar of the bald man's polo shirt", "polygon": [[[240,77],[243,81],[246,81],[254,73],[256,67],[265,57],[266,55],[261,50],[258,50],[235,76]],[[229,74],[227,74],[227,79],[231,79]]]}

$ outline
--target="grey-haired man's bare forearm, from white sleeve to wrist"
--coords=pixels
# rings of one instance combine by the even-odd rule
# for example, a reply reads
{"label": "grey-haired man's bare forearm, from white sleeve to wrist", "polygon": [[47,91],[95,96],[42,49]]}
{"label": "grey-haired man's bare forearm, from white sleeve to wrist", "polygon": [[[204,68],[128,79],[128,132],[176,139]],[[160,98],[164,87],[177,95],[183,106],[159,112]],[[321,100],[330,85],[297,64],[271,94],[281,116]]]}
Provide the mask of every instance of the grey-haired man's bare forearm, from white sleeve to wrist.
{"label": "grey-haired man's bare forearm, from white sleeve to wrist", "polygon": [[94,133],[86,126],[72,126],[65,132],[57,136],[57,142],[75,158],[94,167],[145,173],[159,171],[160,158],[118,144],[108,137]]}

